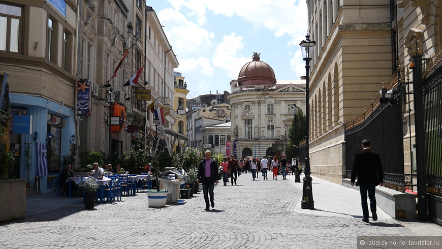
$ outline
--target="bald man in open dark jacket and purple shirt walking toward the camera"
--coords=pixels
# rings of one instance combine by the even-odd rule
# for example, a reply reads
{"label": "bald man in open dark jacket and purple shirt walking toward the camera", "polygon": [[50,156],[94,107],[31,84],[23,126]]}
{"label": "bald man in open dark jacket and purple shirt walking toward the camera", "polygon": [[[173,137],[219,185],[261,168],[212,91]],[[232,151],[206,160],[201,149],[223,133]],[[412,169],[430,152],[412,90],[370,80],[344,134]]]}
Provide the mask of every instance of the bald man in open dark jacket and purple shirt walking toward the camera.
{"label": "bald man in open dark jacket and purple shirt walking toward the camera", "polygon": [[209,211],[209,195],[212,208],[215,206],[213,202],[213,184],[215,182],[218,183],[218,166],[215,160],[210,159],[212,156],[210,150],[206,150],[204,155],[205,159],[201,161],[198,167],[197,183],[200,183],[200,181],[203,183],[204,201],[206,202],[206,208],[204,210]]}

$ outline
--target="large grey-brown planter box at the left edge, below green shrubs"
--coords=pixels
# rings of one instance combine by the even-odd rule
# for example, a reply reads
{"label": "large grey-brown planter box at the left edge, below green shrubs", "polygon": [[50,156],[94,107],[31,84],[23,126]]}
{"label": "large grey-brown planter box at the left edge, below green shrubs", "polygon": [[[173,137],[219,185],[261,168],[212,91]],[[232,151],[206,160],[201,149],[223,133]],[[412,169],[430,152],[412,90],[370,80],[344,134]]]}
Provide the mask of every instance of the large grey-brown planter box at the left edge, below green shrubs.
{"label": "large grey-brown planter box at the left edge, below green shrubs", "polygon": [[23,219],[26,214],[26,180],[0,180],[0,222]]}

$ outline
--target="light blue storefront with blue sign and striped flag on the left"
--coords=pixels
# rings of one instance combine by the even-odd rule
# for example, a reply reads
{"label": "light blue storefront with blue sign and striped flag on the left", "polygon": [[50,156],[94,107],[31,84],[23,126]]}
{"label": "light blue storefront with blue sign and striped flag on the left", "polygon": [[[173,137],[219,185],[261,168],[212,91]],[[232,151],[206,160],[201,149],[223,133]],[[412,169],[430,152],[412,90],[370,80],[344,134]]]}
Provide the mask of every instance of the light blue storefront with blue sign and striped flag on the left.
{"label": "light blue storefront with blue sign and striped flag on the left", "polygon": [[[30,186],[36,186],[39,179],[39,190],[52,191],[48,175],[59,173],[65,166],[62,158],[72,153],[71,144],[75,142],[74,110],[46,98],[22,94],[10,94],[11,114],[17,117],[11,120],[10,149],[15,151],[16,178],[28,179]],[[43,145],[43,146],[42,146]],[[38,153],[38,147],[45,148]],[[26,157],[26,148],[29,153]],[[46,150],[46,151],[45,151]],[[39,163],[47,157],[47,167]],[[28,160],[28,167],[26,167]],[[36,178],[36,176],[38,176]],[[51,181],[50,181],[51,183]]]}

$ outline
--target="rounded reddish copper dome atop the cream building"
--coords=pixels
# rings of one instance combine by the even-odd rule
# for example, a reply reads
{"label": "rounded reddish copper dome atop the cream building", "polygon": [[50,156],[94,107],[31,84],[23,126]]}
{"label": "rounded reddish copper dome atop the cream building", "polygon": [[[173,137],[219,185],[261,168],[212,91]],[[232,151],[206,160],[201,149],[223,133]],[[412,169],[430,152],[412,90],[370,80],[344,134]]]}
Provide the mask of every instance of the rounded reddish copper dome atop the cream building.
{"label": "rounded reddish copper dome atop the cream building", "polygon": [[238,75],[238,85],[272,85],[276,84],[275,72],[267,63],[260,60],[260,54],[255,52],[253,60],[242,66]]}

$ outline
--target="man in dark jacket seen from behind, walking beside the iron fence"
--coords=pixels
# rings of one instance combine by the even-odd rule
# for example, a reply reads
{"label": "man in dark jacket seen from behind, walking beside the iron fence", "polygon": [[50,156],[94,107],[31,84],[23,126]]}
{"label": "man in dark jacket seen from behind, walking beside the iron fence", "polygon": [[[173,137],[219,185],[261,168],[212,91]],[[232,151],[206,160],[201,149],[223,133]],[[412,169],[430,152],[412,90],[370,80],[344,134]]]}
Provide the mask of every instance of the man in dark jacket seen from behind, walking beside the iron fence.
{"label": "man in dark jacket seen from behind, walking beside the iron fence", "polygon": [[376,198],[374,197],[376,185],[384,182],[384,170],[382,169],[381,158],[379,154],[370,150],[370,140],[362,140],[362,151],[356,153],[355,161],[352,169],[352,186],[355,184],[356,176],[358,176],[359,191],[361,192],[362,213],[364,215],[363,222],[368,223],[368,205],[367,192],[370,199],[370,210],[373,221],[377,220],[376,214]]}

